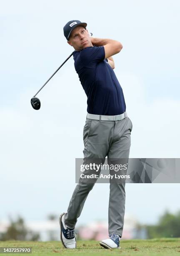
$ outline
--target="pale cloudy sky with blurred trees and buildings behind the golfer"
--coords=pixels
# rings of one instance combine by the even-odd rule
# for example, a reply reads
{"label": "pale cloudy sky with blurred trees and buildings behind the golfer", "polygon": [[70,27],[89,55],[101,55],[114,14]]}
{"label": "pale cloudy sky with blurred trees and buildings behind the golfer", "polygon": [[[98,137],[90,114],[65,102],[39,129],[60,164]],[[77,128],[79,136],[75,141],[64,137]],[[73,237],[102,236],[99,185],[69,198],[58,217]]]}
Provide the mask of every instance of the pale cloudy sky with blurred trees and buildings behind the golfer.
{"label": "pale cloudy sky with blurred trees and buildings behind the golfer", "polygon": [[[115,74],[133,123],[131,158],[179,158],[178,0],[0,2],[0,240],[59,240],[58,216],[83,158],[87,97],[63,26],[120,41]],[[67,118],[68,117],[68,118]],[[122,239],[180,236],[180,184],[126,184]],[[109,184],[95,184],[77,222],[79,239],[106,238]]]}

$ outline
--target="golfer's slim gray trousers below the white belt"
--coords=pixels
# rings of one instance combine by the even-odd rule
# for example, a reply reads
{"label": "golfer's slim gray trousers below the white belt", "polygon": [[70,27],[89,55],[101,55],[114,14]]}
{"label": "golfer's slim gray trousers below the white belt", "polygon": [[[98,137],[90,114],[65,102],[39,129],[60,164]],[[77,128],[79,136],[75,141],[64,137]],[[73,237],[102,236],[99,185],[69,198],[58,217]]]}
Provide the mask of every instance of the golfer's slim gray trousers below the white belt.
{"label": "golfer's slim gray trousers below the white belt", "polygon": [[[133,125],[130,118],[126,117],[117,121],[92,120],[86,118],[84,140],[84,163],[86,158],[108,159],[129,158],[130,134]],[[102,163],[103,164],[103,163]],[[65,225],[74,228],[77,218],[80,216],[87,195],[94,183],[84,183],[80,178],[72,194]],[[125,214],[125,182],[121,184],[110,183],[109,197],[109,234],[115,233],[122,237]]]}

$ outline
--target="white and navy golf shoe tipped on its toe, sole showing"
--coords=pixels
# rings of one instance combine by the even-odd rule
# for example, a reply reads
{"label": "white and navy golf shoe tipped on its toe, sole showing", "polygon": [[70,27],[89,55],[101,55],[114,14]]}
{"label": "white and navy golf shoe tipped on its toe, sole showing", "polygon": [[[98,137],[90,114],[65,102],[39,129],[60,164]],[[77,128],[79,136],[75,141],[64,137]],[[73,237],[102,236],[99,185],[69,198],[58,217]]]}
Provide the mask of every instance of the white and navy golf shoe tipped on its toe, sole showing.
{"label": "white and navy golf shoe tipped on its toe, sole showing", "polygon": [[64,215],[65,212],[63,212],[59,218],[60,240],[65,248],[74,249],[76,248],[75,228],[67,228],[65,226]]}

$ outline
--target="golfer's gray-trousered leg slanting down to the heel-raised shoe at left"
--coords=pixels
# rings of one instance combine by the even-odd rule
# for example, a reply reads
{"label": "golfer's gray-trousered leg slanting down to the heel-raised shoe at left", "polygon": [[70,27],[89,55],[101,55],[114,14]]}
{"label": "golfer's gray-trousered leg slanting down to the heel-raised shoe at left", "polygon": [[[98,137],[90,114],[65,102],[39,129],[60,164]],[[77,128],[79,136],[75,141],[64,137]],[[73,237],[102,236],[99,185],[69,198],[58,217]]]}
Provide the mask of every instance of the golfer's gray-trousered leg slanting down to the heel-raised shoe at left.
{"label": "golfer's gray-trousered leg slanting down to the heel-raised shoe at left", "polygon": [[[108,122],[108,124],[107,124]],[[87,163],[87,159],[95,159],[96,163],[104,164],[105,157],[108,152],[108,138],[109,133],[113,133],[114,123],[109,121],[99,121],[86,119],[86,123],[83,130],[84,140],[84,162]],[[97,159],[100,159],[97,161]],[[84,172],[85,173],[85,172]],[[88,170],[85,174],[91,174],[92,170]],[[97,172],[99,174],[99,172]],[[82,208],[84,206],[87,195],[94,186],[94,183],[85,182],[84,179],[79,179],[72,198],[70,200],[67,213],[65,214],[65,225],[68,228],[74,228],[77,222],[77,218],[80,216]]]}

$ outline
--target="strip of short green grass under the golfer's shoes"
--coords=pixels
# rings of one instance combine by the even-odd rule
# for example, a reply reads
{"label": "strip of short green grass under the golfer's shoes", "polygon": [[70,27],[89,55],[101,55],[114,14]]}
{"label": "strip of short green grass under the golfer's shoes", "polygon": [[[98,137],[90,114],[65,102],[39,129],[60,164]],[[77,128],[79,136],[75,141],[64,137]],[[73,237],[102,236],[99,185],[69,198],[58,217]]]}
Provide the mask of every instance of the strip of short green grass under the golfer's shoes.
{"label": "strip of short green grass under the golfer's shoes", "polygon": [[[30,242],[30,241],[5,241],[0,242],[0,247],[32,247],[35,256],[48,255],[136,255],[136,256],[180,256],[180,238],[161,238],[150,240],[120,241],[121,249],[105,249],[98,241],[77,241],[76,249],[65,249],[59,241]],[[0,255],[10,255],[0,253]],[[15,255],[25,255],[15,253]]]}

